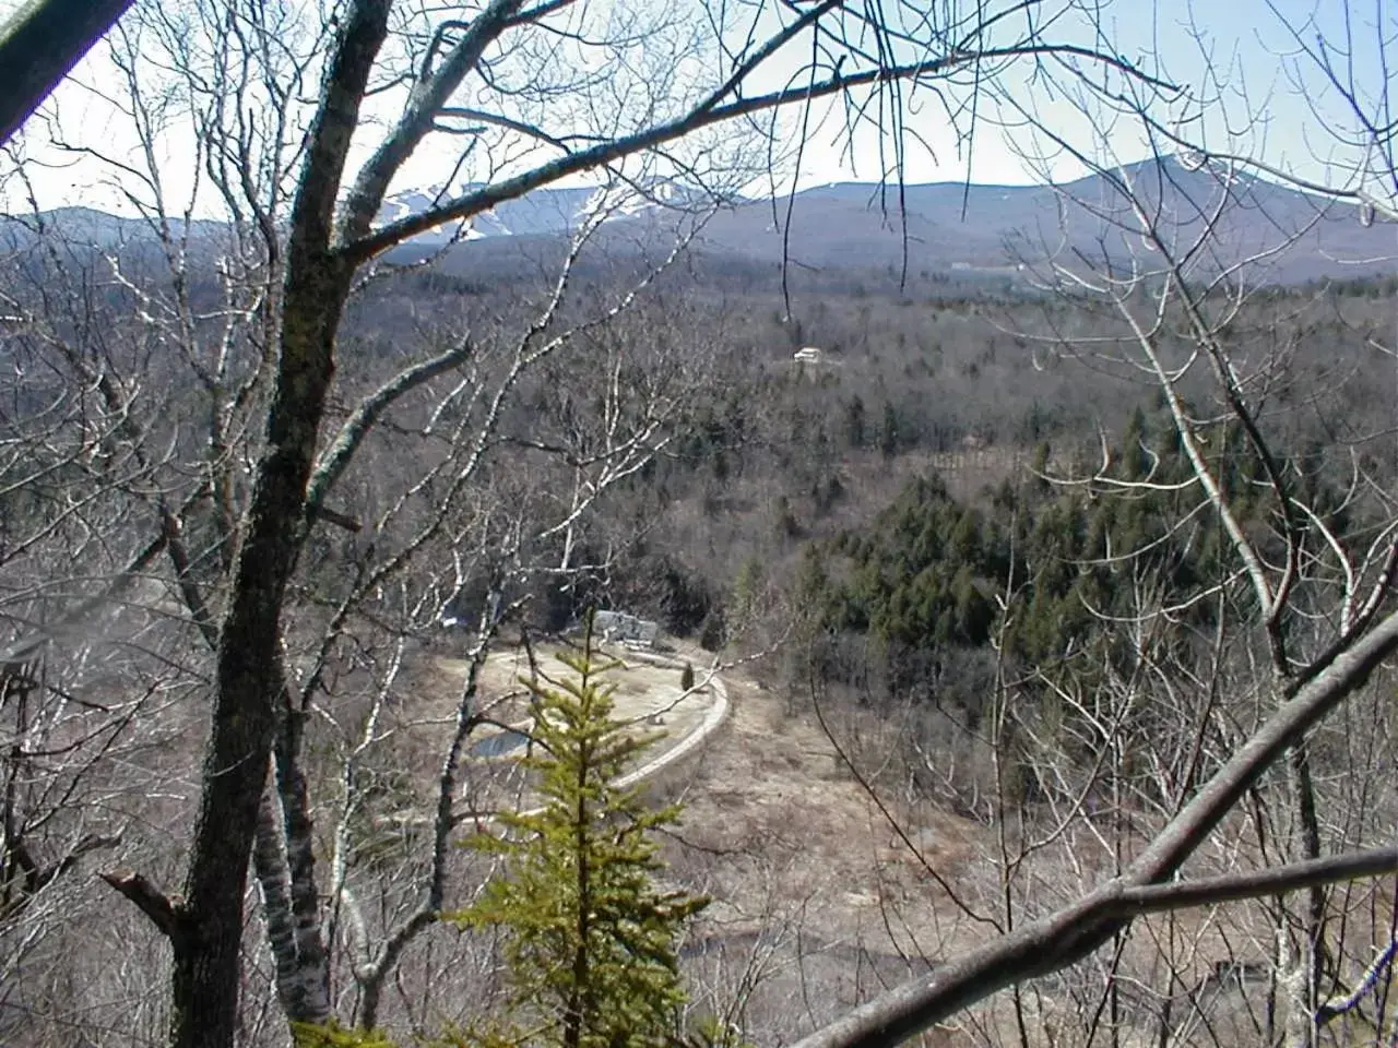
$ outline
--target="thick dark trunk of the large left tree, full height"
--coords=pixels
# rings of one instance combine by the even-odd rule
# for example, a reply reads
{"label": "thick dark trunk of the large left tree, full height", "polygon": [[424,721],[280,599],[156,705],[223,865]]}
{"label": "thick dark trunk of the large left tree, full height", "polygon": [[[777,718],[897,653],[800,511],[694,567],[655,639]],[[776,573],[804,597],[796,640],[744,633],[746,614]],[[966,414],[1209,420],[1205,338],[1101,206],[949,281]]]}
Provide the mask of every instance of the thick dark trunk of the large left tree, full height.
{"label": "thick dark trunk of the large left tree, full height", "polygon": [[292,207],[267,444],[219,630],[214,725],[186,876],[189,933],[175,949],[175,1048],[232,1048],[236,1035],[247,858],[287,686],[281,608],[306,537],[306,483],[355,270],[333,250],[336,201],[390,7],[356,0],[344,13]]}

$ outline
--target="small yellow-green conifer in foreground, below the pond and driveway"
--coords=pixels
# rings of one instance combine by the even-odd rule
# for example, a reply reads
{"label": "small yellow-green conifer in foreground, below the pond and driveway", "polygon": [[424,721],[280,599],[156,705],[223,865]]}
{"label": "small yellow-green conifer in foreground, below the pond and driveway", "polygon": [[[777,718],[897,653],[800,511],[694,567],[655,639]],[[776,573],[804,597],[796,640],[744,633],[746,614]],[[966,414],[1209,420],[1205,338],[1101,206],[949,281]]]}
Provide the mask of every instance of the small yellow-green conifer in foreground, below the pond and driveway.
{"label": "small yellow-green conifer in foreground, below the pond and driveway", "polygon": [[640,789],[615,780],[656,735],[629,732],[612,715],[615,685],[598,676],[591,632],[580,655],[563,657],[576,679],[524,685],[534,696],[541,806],[503,815],[502,834],[474,847],[505,859],[503,876],[456,915],[466,926],[506,932],[510,1014],[466,1038],[540,1048],[661,1048],[679,1035],[675,939],[707,900],[656,885],[653,831],[678,817],[651,809]]}

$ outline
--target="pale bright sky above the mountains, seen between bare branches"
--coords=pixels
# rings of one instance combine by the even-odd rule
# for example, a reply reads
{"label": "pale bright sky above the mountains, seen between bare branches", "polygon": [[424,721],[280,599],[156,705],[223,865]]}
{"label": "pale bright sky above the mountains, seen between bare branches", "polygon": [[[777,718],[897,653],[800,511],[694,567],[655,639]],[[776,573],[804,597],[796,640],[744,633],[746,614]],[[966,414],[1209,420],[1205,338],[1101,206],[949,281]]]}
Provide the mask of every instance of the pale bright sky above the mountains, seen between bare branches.
{"label": "pale bright sky above the mountains, seen between bare branches", "polygon": [[[681,7],[692,1],[678,0]],[[1387,7],[1388,3],[1394,7]],[[17,6],[17,0],[0,0],[0,17]],[[1328,183],[1346,177],[1355,165],[1353,148],[1332,134],[1334,129],[1346,126],[1349,115],[1327,89],[1316,63],[1297,57],[1297,36],[1285,22],[1310,46],[1320,34],[1332,48],[1339,48],[1329,54],[1336,70],[1346,67],[1343,49],[1348,46],[1357,71],[1356,87],[1360,94],[1373,96],[1385,87],[1378,50],[1381,35],[1374,27],[1381,25],[1383,34],[1398,46],[1398,41],[1392,41],[1398,35],[1398,0],[1349,0],[1348,4],[1343,0],[1111,0],[1104,10],[1102,34],[1113,50],[1131,61],[1159,61],[1173,82],[1188,85],[1195,98],[1208,102],[1202,108],[1206,116],[1183,127],[1188,136],[1202,137],[1215,148],[1264,157],[1269,163]],[[1352,15],[1349,25],[1343,18],[1346,11]],[[1064,36],[1082,39],[1085,22],[1075,21],[1071,11],[1060,25]],[[801,59],[804,52],[777,63],[769,82],[781,82]],[[126,120],[105,101],[119,96],[122,88],[101,45],[80,64],[71,81],[59,88],[46,109],[62,117],[64,136],[73,144],[140,161]],[[1040,182],[1046,175],[1064,179],[1081,173],[1081,165],[1051,141],[1053,134],[1099,159],[1110,157],[1128,162],[1145,155],[1146,144],[1135,122],[1109,122],[1100,109],[1085,115],[1062,91],[1023,74],[1011,74],[1002,84],[1004,98],[1012,101],[997,105],[994,98],[984,98],[972,148],[948,127],[931,95],[914,96],[905,112],[909,134],[903,141],[910,147],[902,158],[905,180],[969,177],[1019,184]],[[850,148],[843,141],[840,112],[818,106],[805,124],[798,184],[877,180],[892,173],[889,140],[881,143],[877,133],[865,130],[856,136]],[[1053,134],[1036,131],[1029,123],[1047,127]],[[798,137],[800,126],[795,113],[786,117],[788,144]],[[962,126],[967,126],[965,119]],[[1005,131],[1005,126],[1012,130]],[[120,179],[113,179],[109,168],[56,154],[46,141],[45,129],[42,120],[31,122],[24,143],[27,170],[41,207],[88,204],[130,212],[113,187]],[[175,122],[161,148],[162,177],[175,198],[187,196],[194,184],[190,134]],[[442,145],[425,148],[396,187],[440,183],[449,177],[459,145],[460,138],[445,137]],[[790,175],[797,158],[788,154],[787,159]],[[25,189],[14,177],[0,175],[0,203],[11,210],[24,208]]]}

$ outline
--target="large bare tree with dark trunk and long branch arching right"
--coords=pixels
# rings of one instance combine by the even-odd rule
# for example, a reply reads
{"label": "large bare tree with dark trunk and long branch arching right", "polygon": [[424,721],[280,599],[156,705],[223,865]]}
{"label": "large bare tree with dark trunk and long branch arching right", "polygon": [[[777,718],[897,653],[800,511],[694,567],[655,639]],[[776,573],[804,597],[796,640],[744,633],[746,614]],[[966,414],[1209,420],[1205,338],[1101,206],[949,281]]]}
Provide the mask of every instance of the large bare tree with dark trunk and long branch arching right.
{"label": "large bare tree with dark trunk and long branch arching right", "polygon": [[[327,499],[382,404],[370,395],[351,412],[341,436],[323,443],[341,324],[363,267],[418,233],[466,222],[533,189],[642,154],[664,155],[702,180],[710,166],[705,129],[786,105],[861,98],[898,81],[955,85],[966,78],[976,84],[986,61],[1044,63],[1046,56],[1137,75],[1114,54],[1046,38],[1032,10],[1036,6],[1018,14],[1014,8],[995,14],[979,6],[949,8],[937,20],[906,25],[837,0],[800,11],[783,8],[780,17],[763,7],[745,13],[696,8],[693,34],[686,36],[675,32],[686,14],[671,20],[660,13],[658,25],[642,24],[649,14],[637,14],[636,24],[618,24],[591,4],[493,0],[468,18],[452,18],[435,8],[355,0],[299,36],[289,11],[261,4],[194,6],[187,22],[183,14],[152,13],[131,31],[150,34],[137,48],[161,39],[199,81],[203,95],[196,119],[203,122],[204,166],[235,219],[235,235],[246,229],[257,238],[245,264],[260,267],[263,289],[245,313],[261,320],[260,334],[250,335],[254,344],[260,341],[261,358],[247,374],[252,393],[243,401],[254,405],[247,426],[261,433],[246,458],[246,496],[225,502],[218,514],[228,528],[215,542],[228,558],[226,576],[217,587],[219,599],[210,608],[200,595],[192,609],[212,648],[212,728],[185,889],[176,898],[138,875],[112,879],[171,940],[175,1044],[226,1045],[235,1037],[246,861],[264,817],[263,788],[278,736],[295,731],[295,720],[287,718],[299,715],[285,701],[298,690],[284,662],[287,601],[306,542],[317,527],[326,527]],[[197,32],[200,24],[214,34]],[[860,41],[871,34],[885,46],[865,49]],[[646,68],[635,64],[635,42],[643,35],[651,48]],[[661,59],[653,49],[656,39],[668,39],[678,50]],[[693,50],[693,39],[705,43]],[[733,49],[735,39],[744,43]],[[327,50],[320,49],[322,41],[329,41]],[[776,56],[784,60],[812,48],[797,84],[759,87],[770,82],[766,77]],[[173,116],[162,109],[171,96],[157,103],[143,94],[134,59],[126,70],[127,105],[147,127],[150,143]],[[663,70],[668,75],[650,75]],[[678,80],[691,73],[692,80]],[[317,77],[317,102],[298,109]],[[608,92],[621,103],[604,105]],[[235,110],[229,101],[242,94],[264,105],[245,109],[239,101]],[[397,112],[387,116],[377,147],[351,175],[356,131],[369,131],[370,112],[387,113],[384,106]],[[303,140],[301,126],[308,129]],[[429,140],[453,133],[467,140],[463,161],[473,161],[480,150],[492,180],[460,184],[453,179],[438,201],[382,222],[386,196],[404,163]],[[495,151],[489,151],[492,136]],[[686,143],[698,145],[698,152],[677,152]],[[554,157],[540,158],[541,152]],[[482,170],[480,165],[473,169]],[[159,165],[147,163],[144,170],[141,180],[126,183],[137,193],[133,200],[147,208],[165,243],[180,240],[189,222],[176,229],[169,208],[161,207]],[[249,180],[254,175],[261,176],[257,184]],[[282,210],[284,201],[289,210]],[[531,337],[526,359],[534,351]],[[457,363],[449,358],[440,366]],[[390,380],[382,400],[407,394],[433,367],[410,365]],[[222,411],[226,394],[217,381],[211,390],[215,412]],[[488,442],[489,430],[481,439]],[[219,461],[225,471],[235,468],[231,457]],[[211,488],[226,492],[229,483]],[[185,569],[176,566],[176,573],[189,580]],[[186,587],[186,597],[193,595]],[[291,771],[288,766],[280,770],[282,777]],[[298,789],[284,784],[284,803],[288,788]],[[289,826],[292,819],[285,822]],[[299,848],[301,840],[303,834],[289,826],[288,841]],[[289,857],[294,868],[308,861],[305,851]],[[315,898],[295,879],[291,890],[294,911],[301,908],[298,928],[308,928]],[[313,939],[303,946],[312,954],[319,949]]]}

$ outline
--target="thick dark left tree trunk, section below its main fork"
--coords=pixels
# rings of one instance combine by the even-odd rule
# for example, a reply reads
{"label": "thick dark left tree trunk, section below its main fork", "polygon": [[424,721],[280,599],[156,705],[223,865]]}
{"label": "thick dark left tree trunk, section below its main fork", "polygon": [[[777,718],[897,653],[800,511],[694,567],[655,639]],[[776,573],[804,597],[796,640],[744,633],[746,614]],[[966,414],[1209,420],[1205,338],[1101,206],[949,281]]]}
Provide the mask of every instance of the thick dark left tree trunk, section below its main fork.
{"label": "thick dark left tree trunk, section below its main fork", "polygon": [[336,327],[350,270],[316,253],[288,267],[278,381],[267,451],[256,472],[246,535],[219,637],[214,725],[185,896],[190,935],[175,950],[172,1041],[224,1048],[235,1040],[247,857],[277,728],[281,605],[303,541],[303,500],[334,374]]}

